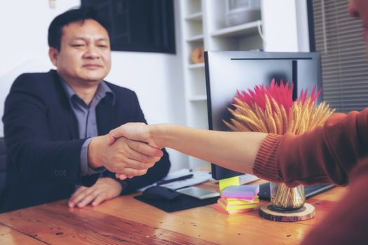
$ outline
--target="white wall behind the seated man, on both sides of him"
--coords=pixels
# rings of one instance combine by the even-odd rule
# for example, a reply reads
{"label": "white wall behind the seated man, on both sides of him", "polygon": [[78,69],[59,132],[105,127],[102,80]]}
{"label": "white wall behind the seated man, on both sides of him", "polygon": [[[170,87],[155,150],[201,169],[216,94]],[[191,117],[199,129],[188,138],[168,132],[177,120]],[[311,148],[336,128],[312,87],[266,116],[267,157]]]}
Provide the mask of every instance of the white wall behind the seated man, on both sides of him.
{"label": "white wall behind the seated man, on both sides of him", "polygon": [[[2,1],[0,3],[0,115],[4,99],[13,80],[24,72],[48,71],[47,29],[53,18],[65,10],[79,6],[80,0]],[[177,8],[177,5],[175,8]],[[176,9],[176,13],[177,9]],[[178,18],[178,14],[175,15]],[[179,23],[179,20],[176,21]],[[179,43],[179,25],[176,25]],[[185,124],[184,87],[181,55],[146,52],[113,52],[112,68],[107,80],[137,92],[142,110],[149,123]],[[0,137],[3,125],[0,123]],[[187,157],[170,151],[172,169],[187,167]]]}

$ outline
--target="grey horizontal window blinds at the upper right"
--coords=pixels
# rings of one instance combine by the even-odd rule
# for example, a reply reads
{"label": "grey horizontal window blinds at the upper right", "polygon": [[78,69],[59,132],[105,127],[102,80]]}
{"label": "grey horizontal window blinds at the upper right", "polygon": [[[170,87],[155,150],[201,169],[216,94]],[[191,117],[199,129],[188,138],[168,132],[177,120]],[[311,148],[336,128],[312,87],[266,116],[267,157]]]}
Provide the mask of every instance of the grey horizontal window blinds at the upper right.
{"label": "grey horizontal window blinds at the upper right", "polygon": [[362,24],[350,17],[348,3],[349,0],[313,0],[323,99],[344,113],[368,106],[368,62]]}

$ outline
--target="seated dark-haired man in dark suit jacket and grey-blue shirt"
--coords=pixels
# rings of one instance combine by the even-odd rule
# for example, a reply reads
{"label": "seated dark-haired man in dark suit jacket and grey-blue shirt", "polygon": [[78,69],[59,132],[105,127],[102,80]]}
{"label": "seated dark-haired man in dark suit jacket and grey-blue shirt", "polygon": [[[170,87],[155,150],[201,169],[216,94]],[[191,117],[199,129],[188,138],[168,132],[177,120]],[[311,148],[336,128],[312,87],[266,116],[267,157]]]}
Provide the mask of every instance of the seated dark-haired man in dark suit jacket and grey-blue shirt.
{"label": "seated dark-haired man in dark suit jacket and grey-blue shirt", "polygon": [[[103,80],[111,50],[95,12],[79,8],[57,16],[48,44],[57,70],[22,74],[6,98],[8,174],[0,211],[69,198],[76,184],[82,187],[69,207],[98,205],[168,174],[165,151],[126,138],[107,145],[110,130],[146,120],[135,92]],[[121,181],[114,173],[135,177]]]}

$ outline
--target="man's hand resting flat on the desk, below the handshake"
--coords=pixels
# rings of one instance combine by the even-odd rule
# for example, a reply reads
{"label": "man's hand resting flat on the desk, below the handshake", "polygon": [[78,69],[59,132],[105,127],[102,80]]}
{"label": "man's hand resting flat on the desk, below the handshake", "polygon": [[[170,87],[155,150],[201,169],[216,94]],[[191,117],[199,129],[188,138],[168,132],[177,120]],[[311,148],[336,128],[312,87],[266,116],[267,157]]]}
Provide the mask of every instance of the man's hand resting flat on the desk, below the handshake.
{"label": "man's hand resting flat on the desk, below the handshake", "polygon": [[86,207],[88,204],[97,206],[105,200],[117,197],[121,193],[121,183],[107,178],[98,179],[91,187],[81,186],[69,199],[69,207]]}

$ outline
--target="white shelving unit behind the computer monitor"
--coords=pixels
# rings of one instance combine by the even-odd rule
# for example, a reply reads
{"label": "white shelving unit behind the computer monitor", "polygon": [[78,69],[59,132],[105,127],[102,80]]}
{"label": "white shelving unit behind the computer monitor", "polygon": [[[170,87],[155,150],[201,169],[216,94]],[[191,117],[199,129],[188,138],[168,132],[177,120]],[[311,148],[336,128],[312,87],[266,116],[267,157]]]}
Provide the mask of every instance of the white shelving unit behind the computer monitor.
{"label": "white shelving unit behind the computer monitor", "polygon": [[[190,127],[208,129],[205,65],[193,64],[194,48],[204,50],[262,50],[259,30],[261,20],[228,27],[225,22],[225,0],[183,0],[180,4],[186,118]],[[189,167],[208,166],[198,158],[189,158]]]}

